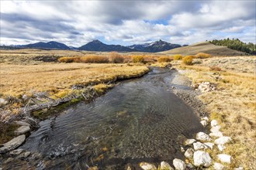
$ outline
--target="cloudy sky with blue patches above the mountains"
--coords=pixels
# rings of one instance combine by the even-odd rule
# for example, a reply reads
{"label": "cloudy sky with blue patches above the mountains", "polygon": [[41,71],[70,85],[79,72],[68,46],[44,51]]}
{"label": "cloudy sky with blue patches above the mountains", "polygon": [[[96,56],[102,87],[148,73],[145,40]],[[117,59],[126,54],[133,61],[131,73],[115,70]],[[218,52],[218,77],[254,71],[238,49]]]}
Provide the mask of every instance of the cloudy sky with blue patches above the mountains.
{"label": "cloudy sky with blue patches above the mountains", "polygon": [[256,43],[255,0],[1,0],[1,45],[94,39],[132,45],[235,38]]}

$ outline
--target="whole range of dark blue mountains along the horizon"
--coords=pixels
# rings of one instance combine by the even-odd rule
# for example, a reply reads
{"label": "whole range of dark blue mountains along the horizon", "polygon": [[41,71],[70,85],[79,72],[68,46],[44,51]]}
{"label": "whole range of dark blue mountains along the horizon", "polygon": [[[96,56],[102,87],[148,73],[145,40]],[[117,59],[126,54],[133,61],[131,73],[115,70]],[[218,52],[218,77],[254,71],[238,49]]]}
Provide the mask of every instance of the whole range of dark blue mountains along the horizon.
{"label": "whole range of dark blue mountains along the horizon", "polygon": [[[6,48],[7,46],[1,46],[1,48]],[[12,46],[15,48],[29,48],[29,49],[71,49],[71,50],[86,50],[86,51],[99,51],[99,52],[147,52],[147,53],[156,53],[161,51],[166,51],[169,49],[175,49],[181,47],[179,44],[172,44],[169,42],[165,42],[163,40],[158,40],[155,42],[144,43],[144,44],[134,44],[132,46],[121,46],[121,45],[108,45],[101,41],[93,40],[92,42],[88,42],[84,46],[80,46],[78,48],[73,46],[67,46],[61,42],[36,42],[30,43],[27,45],[17,45]]]}

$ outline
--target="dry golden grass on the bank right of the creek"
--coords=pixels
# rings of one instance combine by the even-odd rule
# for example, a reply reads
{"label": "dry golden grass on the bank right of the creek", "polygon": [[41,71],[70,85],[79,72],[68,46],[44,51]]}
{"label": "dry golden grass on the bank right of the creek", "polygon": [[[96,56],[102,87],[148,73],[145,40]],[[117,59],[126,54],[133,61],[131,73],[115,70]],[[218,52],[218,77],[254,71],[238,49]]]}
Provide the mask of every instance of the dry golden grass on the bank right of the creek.
{"label": "dry golden grass on the bank right of the creek", "polygon": [[[239,65],[238,65],[239,66]],[[221,72],[216,80],[206,66],[181,66],[193,83],[209,81],[218,90],[202,93],[200,99],[207,104],[211,119],[217,119],[223,134],[234,141],[227,145],[225,153],[235,158],[230,165],[243,165],[246,169],[256,167],[256,76],[254,73]]]}

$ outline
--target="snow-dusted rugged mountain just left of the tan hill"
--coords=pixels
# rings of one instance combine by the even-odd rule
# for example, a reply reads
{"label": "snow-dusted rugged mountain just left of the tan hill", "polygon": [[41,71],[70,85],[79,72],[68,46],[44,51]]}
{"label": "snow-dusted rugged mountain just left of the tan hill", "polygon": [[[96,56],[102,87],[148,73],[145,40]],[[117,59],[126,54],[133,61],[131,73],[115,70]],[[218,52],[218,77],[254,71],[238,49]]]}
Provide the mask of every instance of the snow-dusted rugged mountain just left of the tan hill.
{"label": "snow-dusted rugged mountain just left of the tan hill", "polygon": [[179,44],[171,44],[169,42],[165,42],[163,40],[158,40],[155,42],[144,43],[144,44],[134,44],[132,46],[127,46],[130,49],[137,49],[141,52],[149,52],[149,53],[157,53],[161,51],[166,51],[169,49],[175,49],[181,47]]}

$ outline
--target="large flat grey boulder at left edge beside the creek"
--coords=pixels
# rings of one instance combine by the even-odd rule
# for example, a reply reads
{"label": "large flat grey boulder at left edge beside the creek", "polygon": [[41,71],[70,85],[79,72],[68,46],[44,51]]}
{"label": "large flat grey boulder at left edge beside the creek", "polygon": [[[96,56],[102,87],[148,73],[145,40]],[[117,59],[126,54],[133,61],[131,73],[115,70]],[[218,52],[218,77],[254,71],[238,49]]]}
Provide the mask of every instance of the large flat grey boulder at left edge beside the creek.
{"label": "large flat grey boulder at left edge beside the creek", "polygon": [[25,134],[22,134],[16,138],[13,138],[11,141],[8,141],[5,144],[0,145],[0,154],[4,154],[8,151],[12,151],[15,148],[18,148],[20,145],[22,145],[25,139],[26,139]]}

